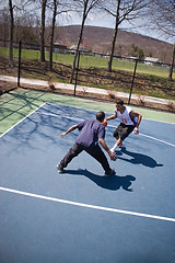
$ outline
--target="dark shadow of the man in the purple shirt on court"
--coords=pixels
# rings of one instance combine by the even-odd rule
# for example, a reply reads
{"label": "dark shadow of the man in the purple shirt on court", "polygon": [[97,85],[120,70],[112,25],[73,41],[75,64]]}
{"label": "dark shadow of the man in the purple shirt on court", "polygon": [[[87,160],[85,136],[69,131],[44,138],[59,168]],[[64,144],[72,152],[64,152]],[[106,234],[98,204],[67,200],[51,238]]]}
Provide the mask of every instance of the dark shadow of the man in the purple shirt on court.
{"label": "dark shadow of the man in the purple shirt on court", "polygon": [[94,174],[86,169],[79,169],[79,170],[66,170],[66,173],[68,174],[74,174],[74,175],[84,175],[88,179],[92,180],[94,183],[96,183],[98,186],[112,191],[119,190],[120,187],[125,191],[132,192],[131,181],[136,181],[136,178],[132,175],[126,175],[126,176],[118,176],[118,175],[112,175],[112,176],[101,176],[97,174]]}

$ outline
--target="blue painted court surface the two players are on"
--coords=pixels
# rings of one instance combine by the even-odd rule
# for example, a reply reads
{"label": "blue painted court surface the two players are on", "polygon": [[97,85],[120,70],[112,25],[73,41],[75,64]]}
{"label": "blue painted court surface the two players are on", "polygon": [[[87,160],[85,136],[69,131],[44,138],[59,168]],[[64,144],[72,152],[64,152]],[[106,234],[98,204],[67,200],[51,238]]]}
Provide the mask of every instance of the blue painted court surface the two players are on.
{"label": "blue painted court surface the two players are on", "polygon": [[79,132],[60,134],[95,114],[47,103],[0,137],[0,263],[175,262],[175,125],[142,119],[116,175],[86,152],[58,174]]}

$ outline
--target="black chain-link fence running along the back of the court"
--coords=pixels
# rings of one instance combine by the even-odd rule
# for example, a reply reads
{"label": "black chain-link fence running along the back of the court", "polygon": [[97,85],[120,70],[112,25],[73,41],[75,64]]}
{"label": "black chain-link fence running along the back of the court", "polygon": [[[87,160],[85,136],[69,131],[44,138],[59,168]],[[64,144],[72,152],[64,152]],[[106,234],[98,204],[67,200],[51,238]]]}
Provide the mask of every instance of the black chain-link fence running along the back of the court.
{"label": "black chain-link fence running along the back of the court", "polygon": [[[45,61],[40,61],[40,46],[32,43],[13,42],[13,67],[9,64],[9,41],[0,41],[0,69],[1,75],[18,77],[20,87],[21,78],[40,79],[49,83],[69,83],[74,49],[63,45],[52,47],[52,61],[50,67],[50,47],[45,46]],[[133,57],[114,56],[113,71],[108,72],[108,55],[79,52],[79,61],[73,76],[74,95],[77,84],[107,89],[113,98],[113,92],[160,96],[174,100],[175,82],[168,81],[170,64],[141,60]],[[175,80],[175,72],[173,72]],[[54,85],[52,85],[54,89]],[[85,88],[84,88],[85,90]],[[140,99],[141,101],[141,99]]]}

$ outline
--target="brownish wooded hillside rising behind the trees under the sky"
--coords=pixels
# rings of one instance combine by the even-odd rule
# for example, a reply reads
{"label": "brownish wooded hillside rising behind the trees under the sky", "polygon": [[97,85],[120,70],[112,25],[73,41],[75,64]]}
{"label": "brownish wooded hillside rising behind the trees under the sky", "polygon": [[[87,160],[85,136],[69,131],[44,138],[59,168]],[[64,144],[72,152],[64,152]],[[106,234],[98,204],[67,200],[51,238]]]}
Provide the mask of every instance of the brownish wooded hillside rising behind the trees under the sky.
{"label": "brownish wooded hillside rising behind the trees under the sky", "polygon": [[[71,47],[77,44],[80,25],[56,27],[56,42]],[[85,26],[82,46],[88,50],[107,54],[110,52],[113,28]],[[116,41],[116,55],[126,56],[132,52],[131,45],[142,49],[144,57],[158,57],[163,62],[171,62],[173,45],[155,38],[119,30]]]}

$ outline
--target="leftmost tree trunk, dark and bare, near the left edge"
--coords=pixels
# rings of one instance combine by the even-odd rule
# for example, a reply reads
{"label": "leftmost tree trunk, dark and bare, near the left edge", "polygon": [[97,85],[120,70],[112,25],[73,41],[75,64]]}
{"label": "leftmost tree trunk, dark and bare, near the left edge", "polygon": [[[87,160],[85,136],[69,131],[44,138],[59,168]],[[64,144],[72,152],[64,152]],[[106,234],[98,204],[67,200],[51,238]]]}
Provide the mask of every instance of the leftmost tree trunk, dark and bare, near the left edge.
{"label": "leftmost tree trunk, dark and bare, near the left edge", "polygon": [[13,18],[13,5],[12,0],[9,0],[9,11],[10,11],[10,54],[9,54],[9,62],[10,66],[13,67],[13,28],[14,28],[14,18]]}

